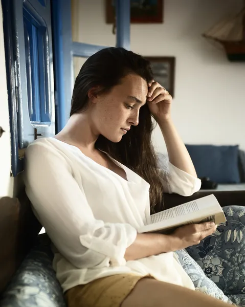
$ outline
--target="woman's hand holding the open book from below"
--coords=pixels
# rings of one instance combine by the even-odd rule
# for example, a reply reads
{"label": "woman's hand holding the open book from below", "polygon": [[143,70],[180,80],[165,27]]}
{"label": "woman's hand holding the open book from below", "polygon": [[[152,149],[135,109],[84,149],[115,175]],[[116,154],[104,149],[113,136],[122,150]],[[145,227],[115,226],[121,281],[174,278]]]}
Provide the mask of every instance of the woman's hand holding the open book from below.
{"label": "woman's hand holding the open book from below", "polygon": [[188,224],[177,228],[171,236],[176,242],[177,249],[184,249],[199,244],[206,236],[215,232],[217,225],[213,222]]}

